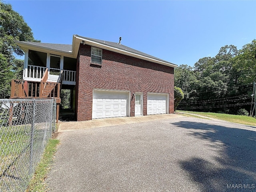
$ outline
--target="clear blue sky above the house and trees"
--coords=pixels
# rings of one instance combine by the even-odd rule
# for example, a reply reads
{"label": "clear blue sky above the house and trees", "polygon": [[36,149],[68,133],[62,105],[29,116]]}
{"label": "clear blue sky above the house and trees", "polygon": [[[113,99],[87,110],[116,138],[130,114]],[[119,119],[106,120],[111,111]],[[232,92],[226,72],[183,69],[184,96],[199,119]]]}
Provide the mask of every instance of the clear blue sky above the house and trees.
{"label": "clear blue sky above the house and trees", "polygon": [[13,1],[34,38],[72,44],[72,35],[118,42],[193,66],[225,45],[256,39],[256,1]]}

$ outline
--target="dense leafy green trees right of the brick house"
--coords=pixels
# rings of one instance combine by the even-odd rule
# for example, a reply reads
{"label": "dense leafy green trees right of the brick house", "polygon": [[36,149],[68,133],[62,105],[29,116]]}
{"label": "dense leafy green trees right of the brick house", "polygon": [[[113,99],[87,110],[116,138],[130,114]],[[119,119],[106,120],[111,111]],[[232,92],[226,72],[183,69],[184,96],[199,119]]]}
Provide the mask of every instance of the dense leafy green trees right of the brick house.
{"label": "dense leafy green trees right of the brick house", "polygon": [[255,80],[256,40],[241,50],[234,45],[223,46],[215,57],[200,58],[193,67],[180,65],[174,70],[174,85],[184,91],[179,105],[184,110],[249,111],[251,83]]}

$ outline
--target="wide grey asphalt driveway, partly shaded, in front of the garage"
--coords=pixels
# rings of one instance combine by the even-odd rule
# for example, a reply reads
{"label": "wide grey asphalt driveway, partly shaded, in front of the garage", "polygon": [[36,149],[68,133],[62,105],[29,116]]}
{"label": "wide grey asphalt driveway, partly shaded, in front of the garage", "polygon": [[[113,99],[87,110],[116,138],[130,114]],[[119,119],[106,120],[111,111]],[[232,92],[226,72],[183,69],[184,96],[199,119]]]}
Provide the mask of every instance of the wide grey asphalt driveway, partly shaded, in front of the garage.
{"label": "wide grey asphalt driveway, partly shaded, in front of the garage", "polygon": [[256,127],[191,117],[62,132],[53,192],[256,191]]}

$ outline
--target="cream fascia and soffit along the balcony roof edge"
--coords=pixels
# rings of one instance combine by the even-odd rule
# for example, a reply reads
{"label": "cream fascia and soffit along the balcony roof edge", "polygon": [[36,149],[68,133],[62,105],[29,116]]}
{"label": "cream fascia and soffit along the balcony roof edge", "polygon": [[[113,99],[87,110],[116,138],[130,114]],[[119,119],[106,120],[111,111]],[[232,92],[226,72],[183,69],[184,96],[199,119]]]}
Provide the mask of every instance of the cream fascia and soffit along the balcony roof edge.
{"label": "cream fascia and soffit along the balcony roof edge", "polygon": [[25,42],[15,41],[15,43],[25,52],[26,52],[26,50],[29,49],[29,50],[34,50],[34,51],[39,51],[39,52],[44,52],[44,53],[46,52],[46,53],[50,53],[50,54],[66,56],[66,57],[70,57],[70,58],[76,58],[77,57],[77,55],[74,55],[73,52],[66,52],[66,51],[46,48],[46,47],[42,47],[42,46],[27,44]]}

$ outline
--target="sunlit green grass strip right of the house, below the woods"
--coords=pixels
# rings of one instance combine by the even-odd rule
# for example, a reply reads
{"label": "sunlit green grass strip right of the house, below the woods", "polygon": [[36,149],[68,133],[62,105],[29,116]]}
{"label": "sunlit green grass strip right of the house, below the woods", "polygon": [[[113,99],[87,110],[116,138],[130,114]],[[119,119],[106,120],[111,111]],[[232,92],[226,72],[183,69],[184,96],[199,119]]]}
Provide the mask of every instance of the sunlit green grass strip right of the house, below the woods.
{"label": "sunlit green grass strip right of the house, below the woods", "polygon": [[229,121],[233,123],[256,126],[256,118],[244,116],[244,115],[230,115],[230,114],[222,114],[222,113],[193,112],[193,111],[180,111],[180,110],[177,110],[177,112],[186,112],[190,114],[202,115],[205,117],[216,118],[216,119]]}

